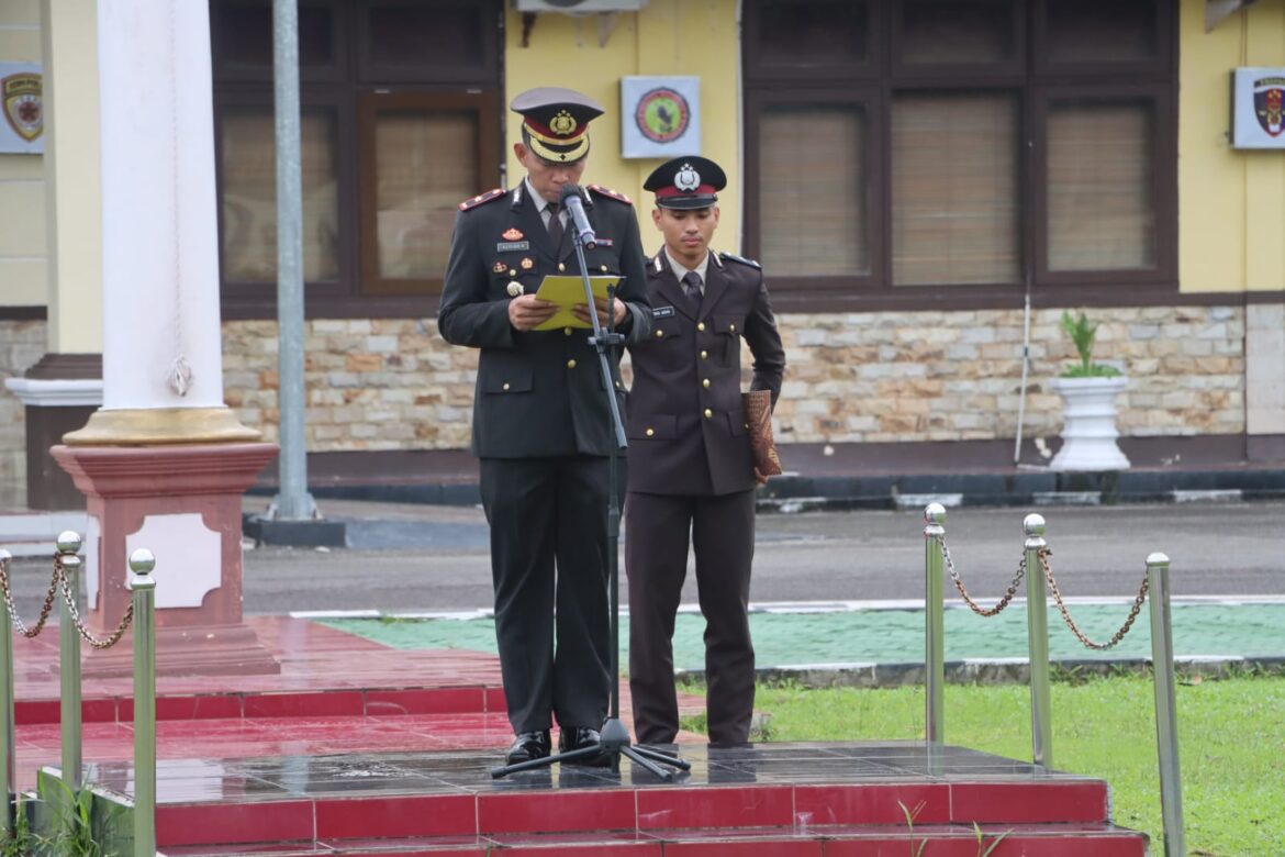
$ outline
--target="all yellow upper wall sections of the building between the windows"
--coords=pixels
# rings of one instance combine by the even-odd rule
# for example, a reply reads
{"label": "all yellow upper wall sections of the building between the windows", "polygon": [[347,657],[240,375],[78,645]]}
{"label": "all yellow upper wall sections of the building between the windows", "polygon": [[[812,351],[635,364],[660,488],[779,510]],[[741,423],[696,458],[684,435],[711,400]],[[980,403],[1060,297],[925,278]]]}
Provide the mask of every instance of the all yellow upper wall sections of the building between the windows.
{"label": "all yellow upper wall sections of the building between the windows", "polygon": [[[1231,148],[1230,71],[1285,66],[1285,0],[1259,0],[1204,31],[1203,0],[1181,0],[1178,69],[1178,271],[1183,292],[1285,290],[1285,153]],[[740,45],[735,0],[651,0],[639,13],[542,13],[526,33],[505,4],[505,91],[567,86],[598,99],[585,180],[639,204],[644,247],[659,245],[642,181],[660,162],[622,158],[619,80],[632,75],[700,78],[702,154],[727,171],[716,244],[741,236]],[[40,0],[0,3],[0,59],[40,62]],[[506,112],[508,139],[520,139]],[[523,175],[508,153],[508,182]],[[0,155],[0,306],[48,302],[42,158]]]}

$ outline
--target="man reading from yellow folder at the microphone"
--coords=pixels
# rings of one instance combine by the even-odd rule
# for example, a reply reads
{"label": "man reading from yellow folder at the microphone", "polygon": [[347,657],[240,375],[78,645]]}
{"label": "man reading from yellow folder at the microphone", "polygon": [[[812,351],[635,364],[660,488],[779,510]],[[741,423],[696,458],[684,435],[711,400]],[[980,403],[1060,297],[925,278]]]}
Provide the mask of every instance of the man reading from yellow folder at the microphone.
{"label": "man reading from yellow folder at the microphone", "polygon": [[[603,108],[565,89],[513,99],[523,117],[514,153],[527,170],[511,190],[460,203],[437,319],[442,337],[481,349],[473,452],[491,526],[495,624],[509,721],[509,764],[599,740],[610,694],[607,590],[608,455],[616,443],[591,330],[536,330],[556,305],[535,296],[547,274],[578,275],[573,225],[559,211],[578,184],[586,127]],[[598,244],[590,274],[622,275],[619,298],[598,301],[627,340],[650,333],[646,260],[630,200],[596,185],[581,199]],[[586,305],[577,307],[589,321]],[[612,374],[621,412],[617,356]],[[556,619],[555,619],[556,608]]]}

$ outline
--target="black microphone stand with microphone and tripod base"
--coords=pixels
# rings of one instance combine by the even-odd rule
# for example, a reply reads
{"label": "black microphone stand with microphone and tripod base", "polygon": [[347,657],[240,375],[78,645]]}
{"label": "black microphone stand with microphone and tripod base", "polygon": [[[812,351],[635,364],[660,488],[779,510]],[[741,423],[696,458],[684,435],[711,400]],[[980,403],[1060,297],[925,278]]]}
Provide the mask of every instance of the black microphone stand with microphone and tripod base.
{"label": "black microphone stand with microphone and tripod base", "polygon": [[[564,194],[565,197],[567,194]],[[616,297],[616,290],[610,287],[607,289],[607,329],[598,320],[598,312],[594,311],[594,289],[589,283],[589,267],[585,265],[585,244],[589,243],[592,247],[592,233],[586,235],[581,233],[580,229],[572,230],[574,233],[576,244],[576,258],[580,261],[580,272],[585,284],[585,302],[590,307],[589,317],[594,325],[594,335],[589,338],[589,344],[594,346],[598,351],[598,362],[603,369],[603,389],[607,392],[607,400],[610,405],[612,411],[612,427],[616,429],[616,446],[612,447],[608,465],[608,492],[607,492],[607,572],[608,572],[608,587],[610,591],[612,603],[612,698],[610,698],[610,711],[607,716],[607,722],[603,723],[603,731],[600,732],[599,741],[596,744],[590,744],[587,747],[581,747],[574,750],[567,750],[565,753],[556,753],[554,755],[546,755],[538,759],[531,759],[529,762],[518,762],[517,764],[506,764],[502,767],[491,768],[491,777],[499,780],[500,777],[514,773],[517,771],[531,771],[533,768],[541,768],[553,764],[554,762],[572,762],[576,759],[598,759],[609,758],[610,767],[614,773],[621,771],[621,755],[627,755],[635,764],[639,764],[662,780],[669,781],[675,777],[673,771],[666,771],[662,764],[669,767],[680,768],[687,771],[691,764],[684,762],[676,755],[669,755],[662,753],[650,747],[644,747],[641,744],[632,744],[630,741],[630,730],[625,727],[621,721],[621,668],[619,668],[619,651],[621,651],[621,594],[619,594],[619,543],[621,543],[621,504],[619,493],[617,491],[617,470],[619,451],[628,446],[625,439],[625,424],[621,420],[621,410],[616,402],[616,382],[612,378],[612,365],[607,358],[607,355],[612,348],[618,348],[625,344],[625,335],[616,333],[616,314],[613,311],[613,298]]]}

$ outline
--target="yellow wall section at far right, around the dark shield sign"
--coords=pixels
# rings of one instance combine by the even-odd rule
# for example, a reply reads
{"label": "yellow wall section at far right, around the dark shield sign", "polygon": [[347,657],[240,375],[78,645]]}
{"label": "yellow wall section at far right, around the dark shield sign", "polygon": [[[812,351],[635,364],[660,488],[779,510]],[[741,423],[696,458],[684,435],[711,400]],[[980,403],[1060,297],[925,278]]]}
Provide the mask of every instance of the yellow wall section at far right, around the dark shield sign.
{"label": "yellow wall section at far right, around the dark shield sign", "polygon": [[1183,292],[1285,289],[1285,152],[1231,148],[1231,69],[1285,66],[1285,0],[1204,31],[1182,0],[1178,45],[1178,278]]}

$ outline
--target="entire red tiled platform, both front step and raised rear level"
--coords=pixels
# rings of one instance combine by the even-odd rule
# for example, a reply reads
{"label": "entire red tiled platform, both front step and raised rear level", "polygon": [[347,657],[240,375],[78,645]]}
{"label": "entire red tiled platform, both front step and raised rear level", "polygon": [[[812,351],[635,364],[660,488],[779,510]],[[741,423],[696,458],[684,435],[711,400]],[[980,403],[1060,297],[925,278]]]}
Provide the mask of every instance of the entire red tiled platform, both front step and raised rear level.
{"label": "entire red tiled platform, both front step and raised rear level", "polygon": [[[492,780],[511,731],[499,664],[398,651],[302,619],[251,619],[276,676],[158,681],[158,840],[171,857],[1142,857],[1106,785],[923,743],[708,749],[660,782],[562,766]],[[58,766],[57,635],[17,649],[18,781]],[[626,689],[627,690],[627,689]],[[87,681],[87,782],[132,798],[132,687]],[[686,698],[686,709],[700,700]],[[627,698],[622,712],[628,711]],[[908,830],[902,806],[915,815]],[[912,836],[912,838],[911,838]]]}

